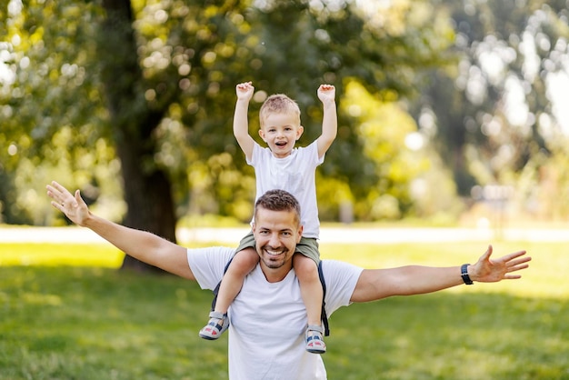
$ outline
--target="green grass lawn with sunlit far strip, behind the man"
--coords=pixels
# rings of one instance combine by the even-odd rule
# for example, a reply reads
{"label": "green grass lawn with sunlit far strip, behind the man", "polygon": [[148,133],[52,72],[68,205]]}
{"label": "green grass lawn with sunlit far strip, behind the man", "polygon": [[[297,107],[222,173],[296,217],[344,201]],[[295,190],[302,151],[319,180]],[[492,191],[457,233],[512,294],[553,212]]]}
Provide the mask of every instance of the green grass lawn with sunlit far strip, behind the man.
{"label": "green grass lawn with sunlit far strip, behind the man", "polygon": [[[496,255],[534,257],[522,280],[340,309],[326,339],[328,377],[569,379],[565,247],[499,243]],[[485,246],[321,248],[323,258],[386,267],[459,265]],[[121,259],[108,245],[0,245],[0,379],[227,378],[227,336],[197,336],[210,292],[175,276],[117,271]]]}

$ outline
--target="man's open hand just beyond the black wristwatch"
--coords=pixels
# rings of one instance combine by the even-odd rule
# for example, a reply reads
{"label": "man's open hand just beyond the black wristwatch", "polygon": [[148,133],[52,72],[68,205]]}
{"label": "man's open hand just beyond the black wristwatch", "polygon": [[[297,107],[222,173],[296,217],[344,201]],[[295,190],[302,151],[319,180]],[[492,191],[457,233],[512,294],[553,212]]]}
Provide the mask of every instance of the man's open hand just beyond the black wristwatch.
{"label": "man's open hand just beyond the black wristwatch", "polygon": [[518,251],[514,254],[504,255],[497,259],[490,259],[492,255],[492,245],[482,255],[476,264],[468,266],[468,275],[473,281],[479,283],[495,283],[501,280],[512,280],[522,277],[512,275],[513,272],[527,268],[531,257],[525,256],[525,251]]}

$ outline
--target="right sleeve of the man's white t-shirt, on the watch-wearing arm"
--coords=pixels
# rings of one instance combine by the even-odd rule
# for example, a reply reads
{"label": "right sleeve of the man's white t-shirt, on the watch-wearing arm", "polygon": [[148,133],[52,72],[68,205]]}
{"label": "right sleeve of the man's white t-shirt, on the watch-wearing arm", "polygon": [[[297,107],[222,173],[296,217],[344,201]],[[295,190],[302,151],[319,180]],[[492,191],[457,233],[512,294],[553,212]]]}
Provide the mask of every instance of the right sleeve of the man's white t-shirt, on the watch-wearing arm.
{"label": "right sleeve of the man's white t-shirt, on the watch-wearing arm", "polygon": [[322,272],[326,284],[326,313],[332,315],[342,306],[350,305],[355,285],[364,268],[338,260],[323,260]]}

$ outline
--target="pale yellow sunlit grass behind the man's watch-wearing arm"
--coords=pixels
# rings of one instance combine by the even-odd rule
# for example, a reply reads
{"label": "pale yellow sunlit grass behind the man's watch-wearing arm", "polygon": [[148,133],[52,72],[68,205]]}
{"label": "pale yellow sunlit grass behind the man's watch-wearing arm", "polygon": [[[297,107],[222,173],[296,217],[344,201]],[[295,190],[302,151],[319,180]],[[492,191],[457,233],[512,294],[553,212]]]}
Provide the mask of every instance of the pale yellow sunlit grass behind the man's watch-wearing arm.
{"label": "pale yellow sunlit grass behind the man's watch-wearing arm", "polygon": [[[322,257],[348,261],[367,268],[400,265],[461,265],[474,264],[487,245],[480,242],[421,243],[394,245],[320,245]],[[567,243],[498,242],[493,256],[517,251],[532,256],[530,268],[520,273],[521,280],[498,284],[459,286],[450,292],[507,293],[519,296],[547,296],[569,299],[569,251]]]}

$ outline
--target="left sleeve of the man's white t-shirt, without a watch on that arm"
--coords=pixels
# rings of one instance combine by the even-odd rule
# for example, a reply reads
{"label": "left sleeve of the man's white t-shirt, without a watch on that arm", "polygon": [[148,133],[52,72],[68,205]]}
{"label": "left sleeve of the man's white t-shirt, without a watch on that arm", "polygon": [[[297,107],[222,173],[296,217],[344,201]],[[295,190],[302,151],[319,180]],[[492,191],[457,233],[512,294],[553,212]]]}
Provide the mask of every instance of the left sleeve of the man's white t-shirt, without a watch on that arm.
{"label": "left sleeve of the man's white t-shirt, without a watch on that arm", "polygon": [[202,289],[214,290],[224,275],[225,265],[235,249],[226,246],[195,248],[187,250],[188,265],[195,281]]}

